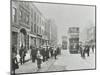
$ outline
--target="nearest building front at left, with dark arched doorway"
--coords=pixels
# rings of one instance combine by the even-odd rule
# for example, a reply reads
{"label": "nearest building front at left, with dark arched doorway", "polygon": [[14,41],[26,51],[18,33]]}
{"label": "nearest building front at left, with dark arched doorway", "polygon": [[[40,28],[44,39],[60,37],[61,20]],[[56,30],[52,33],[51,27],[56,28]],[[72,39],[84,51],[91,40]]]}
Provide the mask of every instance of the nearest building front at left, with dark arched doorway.
{"label": "nearest building front at left, with dark arched doorway", "polygon": [[12,45],[29,49],[30,8],[29,3],[12,1],[11,9]]}

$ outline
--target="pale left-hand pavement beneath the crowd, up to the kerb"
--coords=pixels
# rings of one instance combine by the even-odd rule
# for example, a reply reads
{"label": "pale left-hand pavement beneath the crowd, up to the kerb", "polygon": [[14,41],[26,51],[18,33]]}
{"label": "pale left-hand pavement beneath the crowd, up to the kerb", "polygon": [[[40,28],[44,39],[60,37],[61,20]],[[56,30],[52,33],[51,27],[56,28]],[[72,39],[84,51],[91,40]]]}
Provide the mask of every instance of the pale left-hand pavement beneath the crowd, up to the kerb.
{"label": "pale left-hand pavement beneath the crowd, up to the kerb", "polygon": [[35,63],[32,60],[19,65],[19,69],[16,69],[16,73],[31,73],[31,72],[45,72],[55,62],[54,58],[50,58],[48,61],[42,62],[41,69],[37,68],[37,61]]}

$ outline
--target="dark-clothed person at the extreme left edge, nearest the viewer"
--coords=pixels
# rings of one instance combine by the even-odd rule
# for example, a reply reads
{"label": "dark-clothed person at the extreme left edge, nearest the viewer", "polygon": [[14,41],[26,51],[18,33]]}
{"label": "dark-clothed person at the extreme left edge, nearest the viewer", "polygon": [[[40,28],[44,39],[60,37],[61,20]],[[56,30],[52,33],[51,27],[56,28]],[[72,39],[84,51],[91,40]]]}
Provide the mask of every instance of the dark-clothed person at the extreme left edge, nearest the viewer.
{"label": "dark-clothed person at the extreme left edge, nearest the viewer", "polygon": [[18,69],[19,68],[19,65],[18,65],[18,61],[17,61],[17,57],[16,57],[16,55],[17,55],[17,52],[14,50],[14,48],[12,48],[12,65],[11,65],[11,73],[12,73],[12,75],[15,75],[15,70],[16,69]]}

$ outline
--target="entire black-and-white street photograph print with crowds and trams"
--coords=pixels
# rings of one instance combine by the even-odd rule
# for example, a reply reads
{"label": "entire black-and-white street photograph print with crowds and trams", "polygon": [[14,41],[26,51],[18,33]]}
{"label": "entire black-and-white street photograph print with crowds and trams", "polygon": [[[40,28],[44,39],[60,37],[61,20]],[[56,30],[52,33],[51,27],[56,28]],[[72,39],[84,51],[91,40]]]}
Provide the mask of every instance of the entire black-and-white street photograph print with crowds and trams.
{"label": "entire black-and-white street photograph print with crowds and trams", "polygon": [[95,7],[12,1],[11,9],[12,75],[95,69]]}

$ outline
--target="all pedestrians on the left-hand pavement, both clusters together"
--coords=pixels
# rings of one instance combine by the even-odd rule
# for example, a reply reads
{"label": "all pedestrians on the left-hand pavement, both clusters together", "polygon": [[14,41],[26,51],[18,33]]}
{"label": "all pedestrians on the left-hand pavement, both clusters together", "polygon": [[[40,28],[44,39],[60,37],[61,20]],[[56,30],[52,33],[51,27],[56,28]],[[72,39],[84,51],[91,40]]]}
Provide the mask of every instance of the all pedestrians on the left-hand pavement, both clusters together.
{"label": "all pedestrians on the left-hand pavement, both clusters together", "polygon": [[[37,68],[41,68],[42,62],[48,61],[49,58],[55,58],[57,59],[57,55],[61,54],[60,47],[50,47],[50,46],[30,46],[30,56],[32,59],[32,62],[34,63],[37,61]],[[19,68],[19,63],[22,65],[25,63],[25,56],[26,56],[27,50],[22,45],[19,49],[19,52],[17,51],[16,46],[12,46],[12,54],[11,54],[11,71],[12,75],[15,75],[15,70]],[[18,56],[19,55],[19,61]]]}

